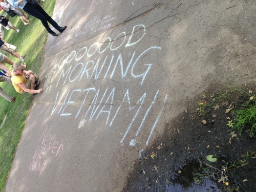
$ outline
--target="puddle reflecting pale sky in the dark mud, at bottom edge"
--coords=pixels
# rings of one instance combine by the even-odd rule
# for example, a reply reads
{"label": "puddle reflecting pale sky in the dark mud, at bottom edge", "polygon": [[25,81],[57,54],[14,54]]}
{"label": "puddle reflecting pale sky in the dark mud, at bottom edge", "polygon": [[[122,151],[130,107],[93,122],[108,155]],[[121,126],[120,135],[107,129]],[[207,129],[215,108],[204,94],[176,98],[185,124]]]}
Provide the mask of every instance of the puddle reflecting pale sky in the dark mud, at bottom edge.
{"label": "puddle reflecting pale sky in the dark mud, at bottom edge", "polygon": [[184,188],[181,184],[172,184],[166,186],[166,192],[198,192],[198,191],[209,191],[209,192],[221,192],[217,185],[210,179],[203,180],[202,184],[192,183],[191,186]]}

